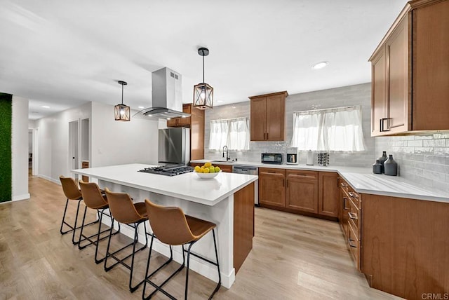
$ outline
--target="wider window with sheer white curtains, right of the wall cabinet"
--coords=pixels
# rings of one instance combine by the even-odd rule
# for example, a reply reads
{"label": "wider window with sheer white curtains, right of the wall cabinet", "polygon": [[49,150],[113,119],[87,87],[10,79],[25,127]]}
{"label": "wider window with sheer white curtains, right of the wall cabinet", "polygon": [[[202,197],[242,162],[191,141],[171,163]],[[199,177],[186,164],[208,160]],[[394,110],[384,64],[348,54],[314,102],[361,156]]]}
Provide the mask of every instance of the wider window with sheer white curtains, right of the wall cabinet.
{"label": "wider window with sheer white curtains, right of the wall cabinet", "polygon": [[295,111],[291,146],[303,151],[365,151],[361,107]]}

